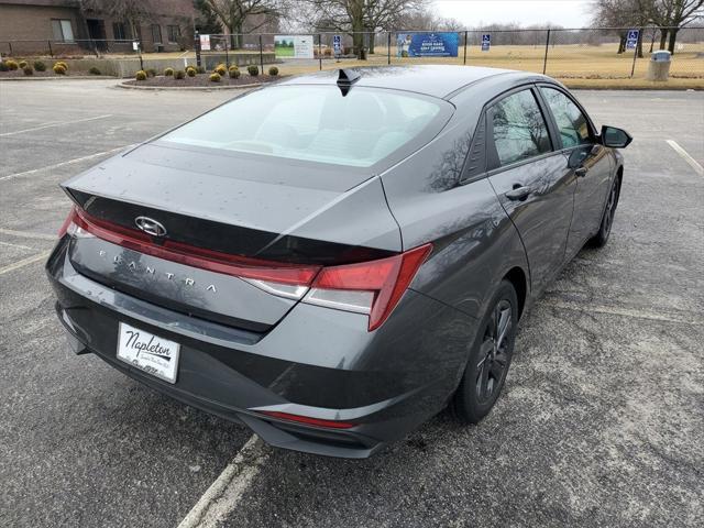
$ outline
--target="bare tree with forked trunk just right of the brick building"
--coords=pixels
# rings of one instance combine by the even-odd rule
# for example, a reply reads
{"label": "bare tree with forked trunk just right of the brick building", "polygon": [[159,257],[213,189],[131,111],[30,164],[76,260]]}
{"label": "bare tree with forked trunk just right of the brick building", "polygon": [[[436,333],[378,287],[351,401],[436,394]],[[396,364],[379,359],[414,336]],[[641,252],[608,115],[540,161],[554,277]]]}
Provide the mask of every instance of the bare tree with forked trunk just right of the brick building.
{"label": "bare tree with forked trunk just right of the brick building", "polygon": [[[282,14],[284,3],[277,0],[202,0],[202,4],[216,14],[232,36],[232,47],[240,47],[245,21],[258,21],[249,28],[254,32],[268,22],[270,16]],[[249,20],[248,20],[249,19]]]}

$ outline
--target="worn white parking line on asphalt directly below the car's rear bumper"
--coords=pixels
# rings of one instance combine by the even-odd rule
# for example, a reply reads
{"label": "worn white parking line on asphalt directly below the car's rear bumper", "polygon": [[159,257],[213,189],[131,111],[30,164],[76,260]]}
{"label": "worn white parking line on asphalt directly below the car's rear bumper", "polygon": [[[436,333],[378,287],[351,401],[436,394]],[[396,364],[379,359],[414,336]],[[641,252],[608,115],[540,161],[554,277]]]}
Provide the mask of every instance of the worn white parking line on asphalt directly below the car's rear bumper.
{"label": "worn white parking line on asphalt directly below the car's rear bumper", "polygon": [[211,528],[232,512],[250,486],[267,454],[256,435],[242,447],[232,462],[220,473],[178,528]]}

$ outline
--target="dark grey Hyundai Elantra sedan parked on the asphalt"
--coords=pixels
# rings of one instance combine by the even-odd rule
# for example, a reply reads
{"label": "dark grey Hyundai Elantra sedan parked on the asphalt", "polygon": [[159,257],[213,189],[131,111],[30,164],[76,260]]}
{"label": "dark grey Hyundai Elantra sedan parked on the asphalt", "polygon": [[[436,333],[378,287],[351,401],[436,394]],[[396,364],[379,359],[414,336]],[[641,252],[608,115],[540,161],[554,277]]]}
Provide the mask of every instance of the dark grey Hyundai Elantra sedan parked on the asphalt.
{"label": "dark grey Hyundai Elantra sedan parked on the asphalt", "polygon": [[630,141],[541,75],[290,78],[63,184],[58,318],[273,446],[369,457],[491,410],[521,315],[606,243]]}

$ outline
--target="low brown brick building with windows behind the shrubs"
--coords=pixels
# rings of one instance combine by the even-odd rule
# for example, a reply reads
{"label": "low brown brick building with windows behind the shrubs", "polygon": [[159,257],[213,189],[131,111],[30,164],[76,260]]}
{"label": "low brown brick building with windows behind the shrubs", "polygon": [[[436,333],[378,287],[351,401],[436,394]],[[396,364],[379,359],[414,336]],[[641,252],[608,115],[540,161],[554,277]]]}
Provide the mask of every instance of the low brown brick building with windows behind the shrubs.
{"label": "low brown brick building with windows behind the shrubs", "polygon": [[[110,15],[110,0],[0,0],[0,45],[14,53],[79,48],[128,52],[140,41],[145,52],[178,51],[193,43],[193,0],[144,0],[133,20]],[[122,41],[122,42],[120,42]],[[4,50],[0,47],[0,50]]]}

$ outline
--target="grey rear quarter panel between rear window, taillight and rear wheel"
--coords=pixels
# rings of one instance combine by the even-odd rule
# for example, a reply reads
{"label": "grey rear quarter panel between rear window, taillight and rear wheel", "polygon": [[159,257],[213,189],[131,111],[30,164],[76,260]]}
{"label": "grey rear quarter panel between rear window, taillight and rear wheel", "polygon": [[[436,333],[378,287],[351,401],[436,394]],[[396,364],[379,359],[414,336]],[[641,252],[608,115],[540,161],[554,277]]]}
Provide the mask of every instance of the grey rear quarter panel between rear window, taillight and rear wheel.
{"label": "grey rear quarter panel between rear window, taillight and rear wheel", "polygon": [[529,276],[518,233],[488,179],[460,182],[479,110],[382,175],[404,250],[435,246],[410,287],[472,318],[482,317],[509,270]]}

